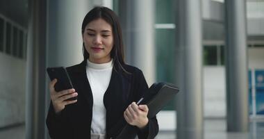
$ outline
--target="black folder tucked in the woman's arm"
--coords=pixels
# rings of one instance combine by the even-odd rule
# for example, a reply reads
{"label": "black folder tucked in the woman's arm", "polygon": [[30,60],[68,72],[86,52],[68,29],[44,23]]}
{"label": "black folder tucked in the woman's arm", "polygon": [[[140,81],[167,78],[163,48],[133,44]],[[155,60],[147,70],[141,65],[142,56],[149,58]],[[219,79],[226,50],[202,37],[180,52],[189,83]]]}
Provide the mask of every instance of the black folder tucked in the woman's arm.
{"label": "black folder tucked in the woman's arm", "polygon": [[[179,88],[171,83],[154,83],[137,104],[147,104],[149,108],[147,117],[151,118],[172,100],[178,92]],[[126,124],[115,139],[135,139],[137,132],[138,128],[136,126]]]}

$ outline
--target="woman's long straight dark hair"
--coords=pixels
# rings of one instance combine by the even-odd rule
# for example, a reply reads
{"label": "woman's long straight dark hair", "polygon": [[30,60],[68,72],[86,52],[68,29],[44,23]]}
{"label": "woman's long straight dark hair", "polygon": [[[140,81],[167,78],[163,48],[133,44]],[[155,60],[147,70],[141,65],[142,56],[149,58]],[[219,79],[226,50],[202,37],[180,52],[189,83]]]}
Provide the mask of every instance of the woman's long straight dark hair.
{"label": "woman's long straight dark hair", "polygon": [[[113,49],[110,51],[110,57],[113,58],[114,67],[117,66],[124,70],[122,67],[122,65],[124,65],[124,44],[122,39],[122,31],[117,19],[117,15],[115,15],[113,10],[101,6],[94,7],[89,13],[87,13],[87,15],[85,15],[83,24],[81,26],[81,33],[84,33],[85,26],[87,26],[87,24],[99,18],[104,19],[108,24],[110,24],[110,26],[112,26],[114,45]],[[87,60],[88,58],[89,54],[83,43],[83,59]]]}

